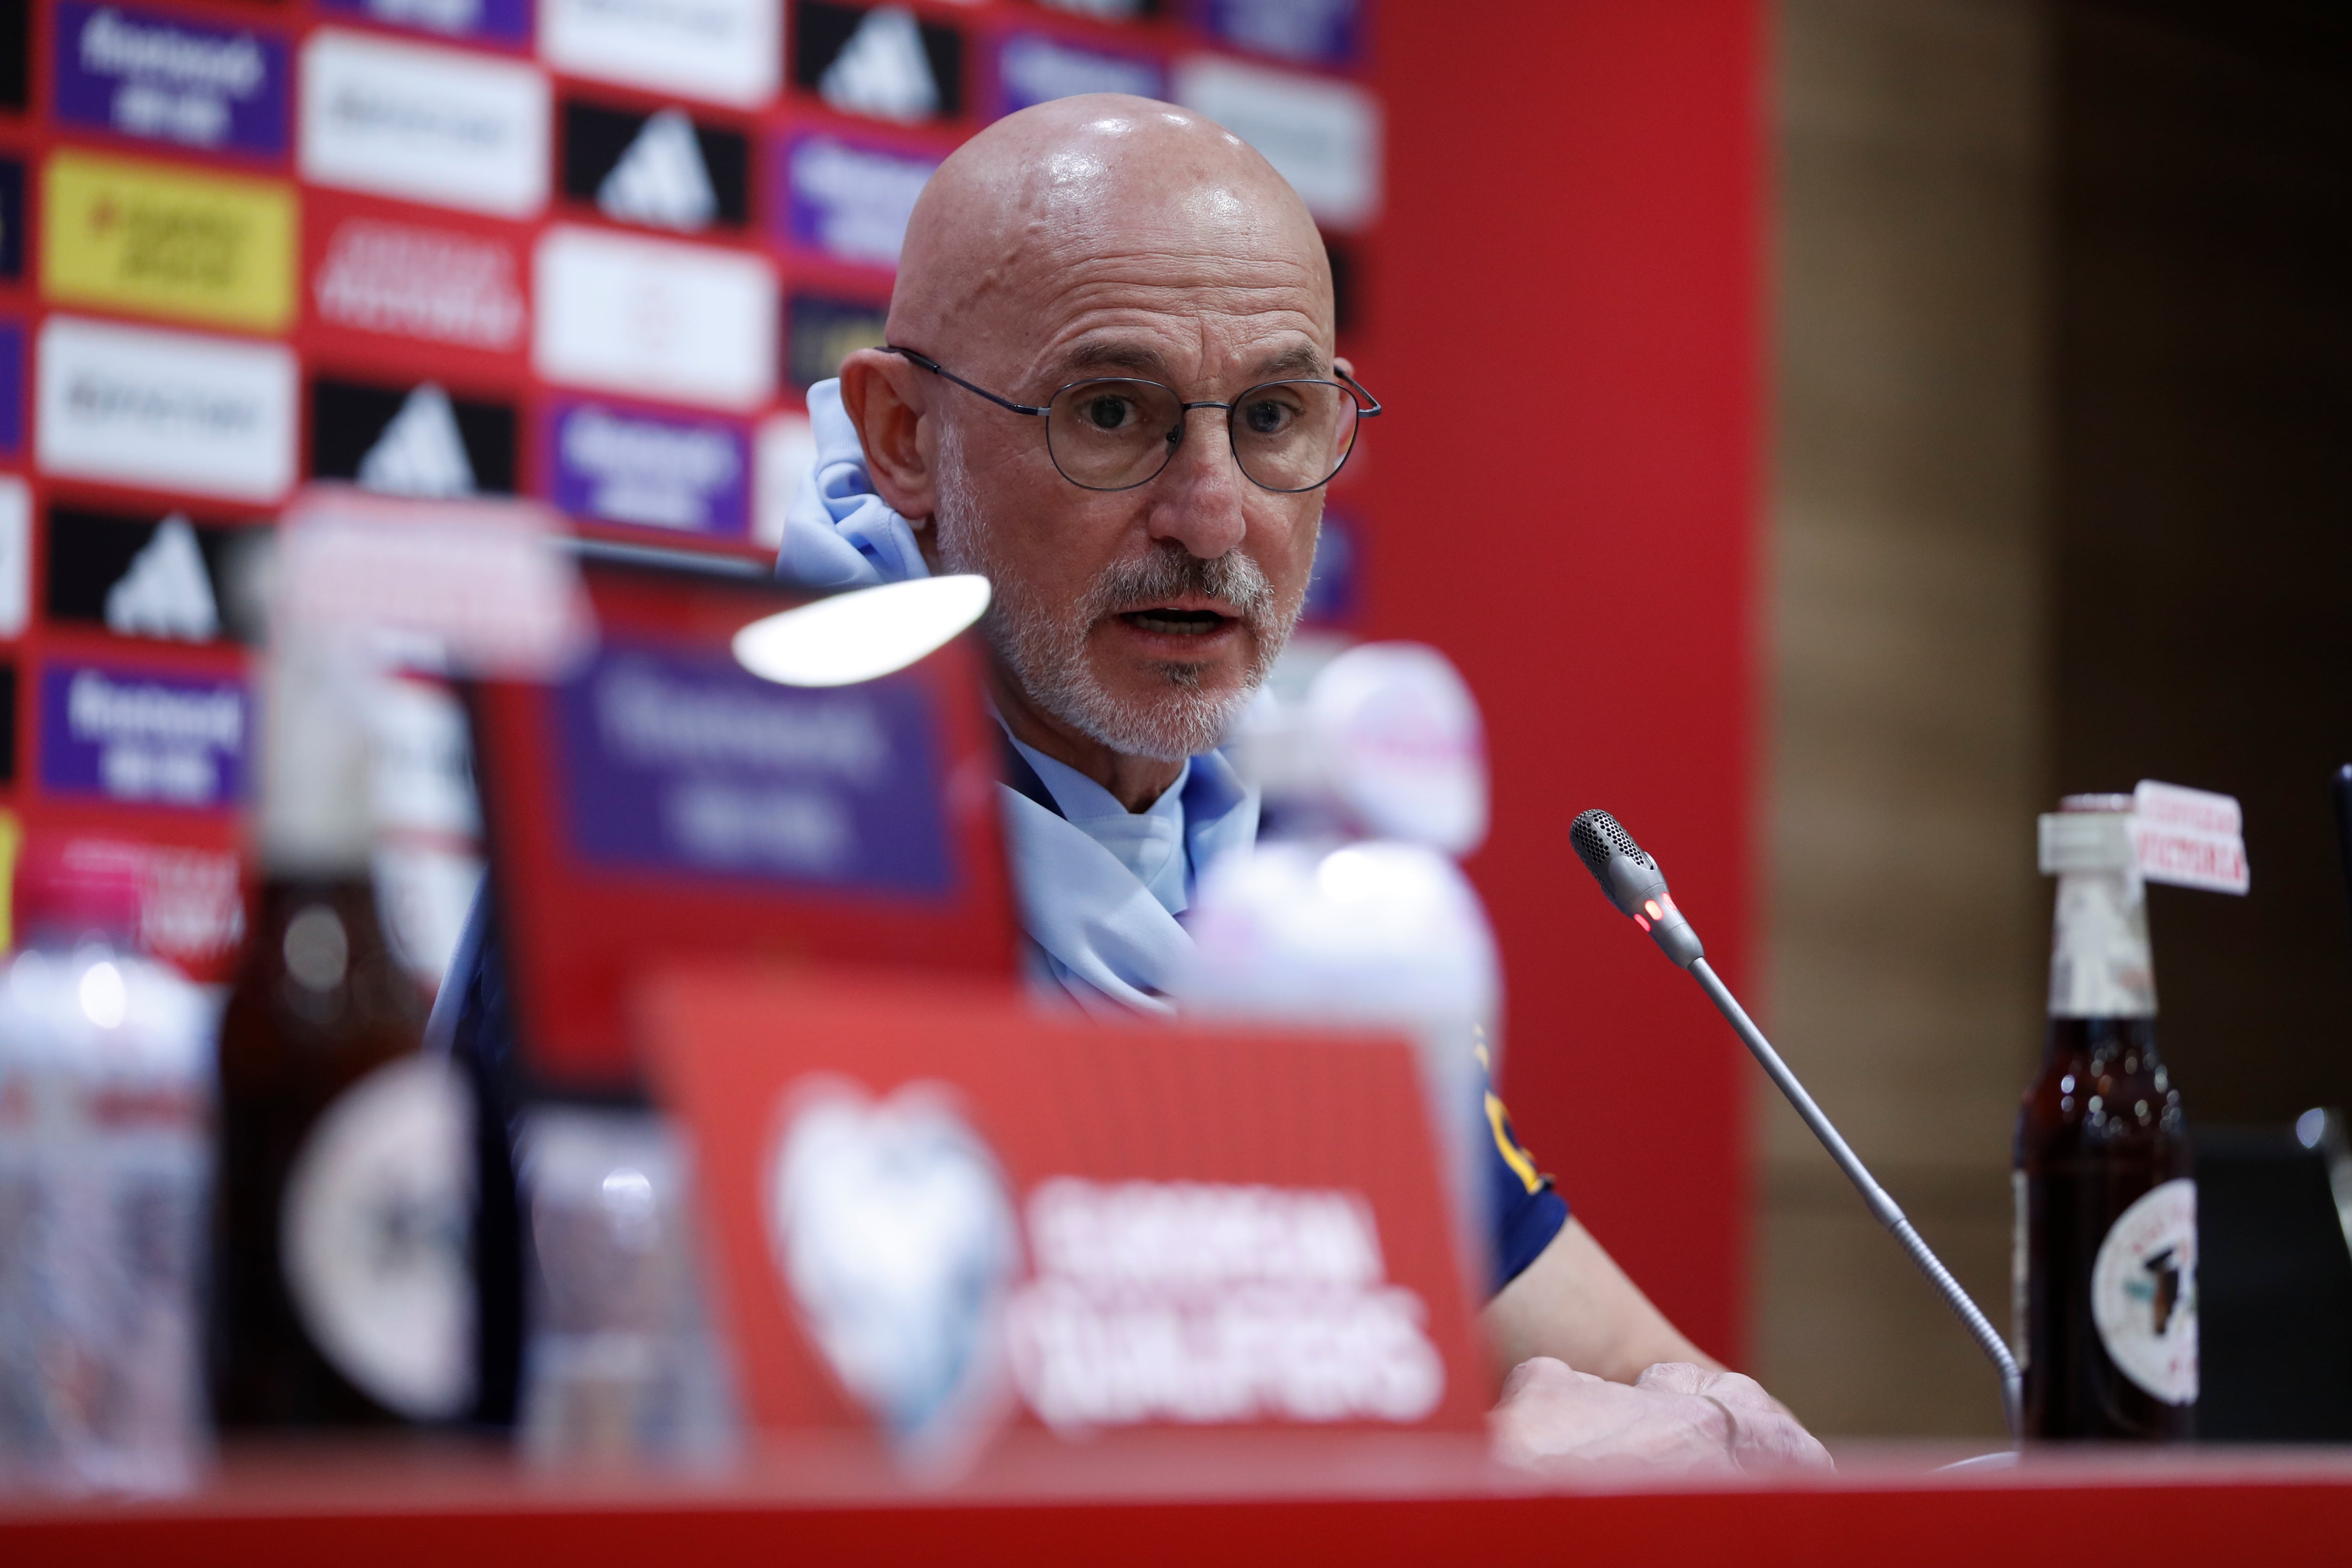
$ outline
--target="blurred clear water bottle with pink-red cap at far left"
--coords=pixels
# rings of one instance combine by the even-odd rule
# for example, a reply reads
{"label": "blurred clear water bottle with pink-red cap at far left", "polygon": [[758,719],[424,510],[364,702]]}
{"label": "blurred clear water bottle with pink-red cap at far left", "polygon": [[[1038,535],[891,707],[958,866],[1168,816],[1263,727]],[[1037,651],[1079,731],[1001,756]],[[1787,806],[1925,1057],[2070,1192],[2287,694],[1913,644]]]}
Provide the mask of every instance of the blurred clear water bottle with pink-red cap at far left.
{"label": "blurred clear water bottle with pink-red cap at far left", "polygon": [[0,976],[0,1493],[205,1458],[212,1001],[141,952],[146,863],[31,846]]}

